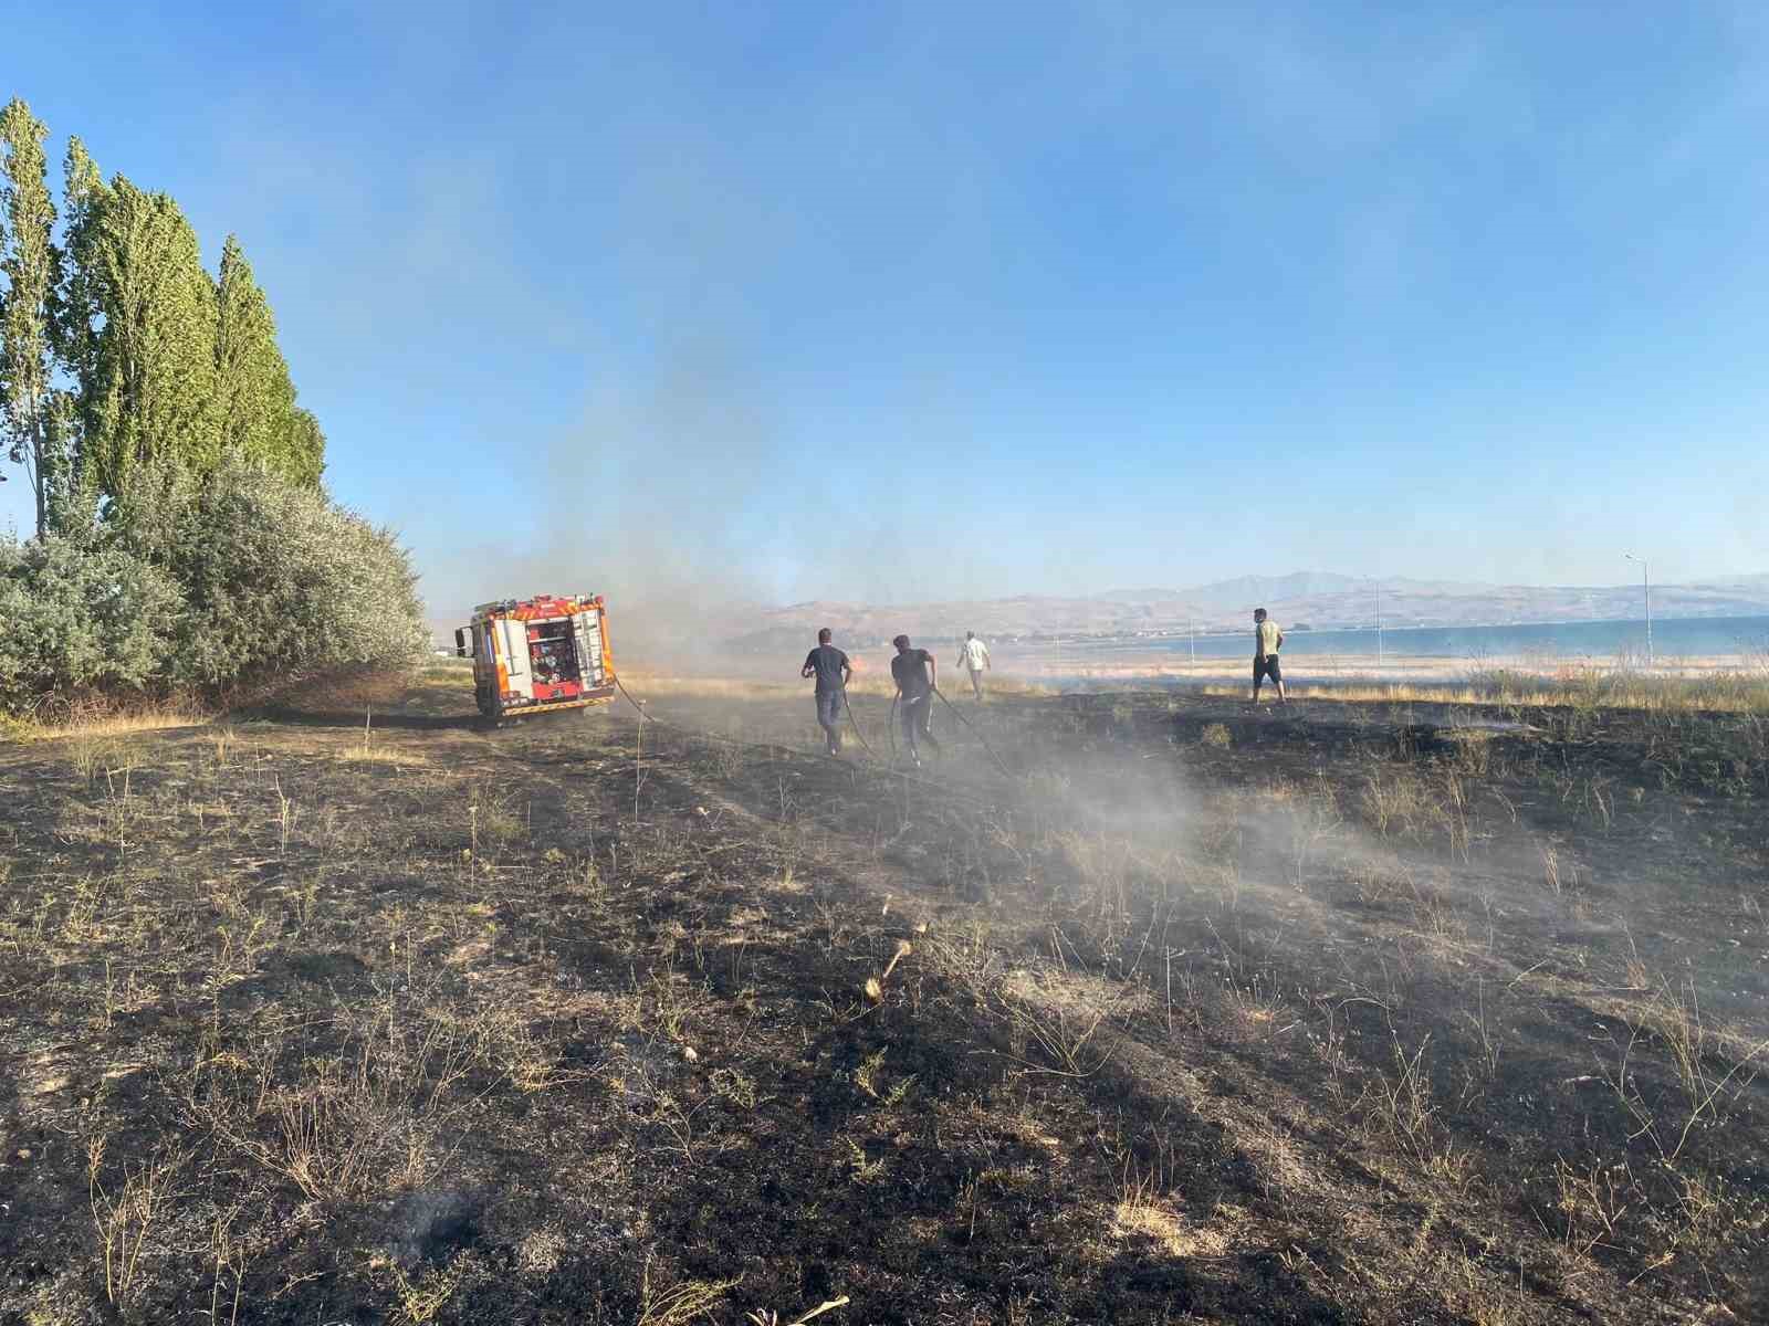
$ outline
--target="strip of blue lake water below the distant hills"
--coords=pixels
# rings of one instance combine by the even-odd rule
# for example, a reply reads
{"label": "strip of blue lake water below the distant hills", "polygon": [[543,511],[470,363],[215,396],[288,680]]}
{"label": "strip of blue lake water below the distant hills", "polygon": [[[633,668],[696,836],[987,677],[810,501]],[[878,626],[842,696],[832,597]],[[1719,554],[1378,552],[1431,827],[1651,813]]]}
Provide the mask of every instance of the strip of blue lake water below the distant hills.
{"label": "strip of blue lake water below the distant hills", "polygon": [[[1070,645],[1076,649],[1077,645]],[[1114,640],[1079,645],[1088,652],[1164,651],[1187,654],[1187,636]],[[1406,626],[1382,631],[1382,652],[1392,658],[1482,659],[1617,659],[1645,661],[1647,624],[1539,622],[1532,626]],[[1252,658],[1252,628],[1235,635],[1199,635],[1199,658]],[[1376,631],[1286,631],[1284,658],[1323,654],[1376,654]],[[1769,617],[1673,617],[1652,621],[1652,656],[1659,663],[1705,654],[1769,654]]]}

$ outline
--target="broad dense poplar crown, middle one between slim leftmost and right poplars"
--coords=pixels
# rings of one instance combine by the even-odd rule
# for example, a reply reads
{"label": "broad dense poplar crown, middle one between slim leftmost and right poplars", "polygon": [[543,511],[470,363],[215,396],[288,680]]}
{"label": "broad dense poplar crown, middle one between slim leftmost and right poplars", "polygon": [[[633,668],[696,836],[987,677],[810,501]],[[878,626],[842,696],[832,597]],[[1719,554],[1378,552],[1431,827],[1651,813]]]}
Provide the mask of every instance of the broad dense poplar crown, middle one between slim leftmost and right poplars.
{"label": "broad dense poplar crown, middle one between slim leftmost and right poplars", "polygon": [[[83,182],[90,189],[90,182]],[[117,175],[90,191],[71,256],[71,299],[85,435],[83,463],[97,490],[119,495],[136,465],[165,456],[196,472],[221,456],[216,392],[216,290],[196,233],[163,193]],[[81,345],[78,316],[96,309],[96,339]],[[90,329],[94,324],[87,324]]]}

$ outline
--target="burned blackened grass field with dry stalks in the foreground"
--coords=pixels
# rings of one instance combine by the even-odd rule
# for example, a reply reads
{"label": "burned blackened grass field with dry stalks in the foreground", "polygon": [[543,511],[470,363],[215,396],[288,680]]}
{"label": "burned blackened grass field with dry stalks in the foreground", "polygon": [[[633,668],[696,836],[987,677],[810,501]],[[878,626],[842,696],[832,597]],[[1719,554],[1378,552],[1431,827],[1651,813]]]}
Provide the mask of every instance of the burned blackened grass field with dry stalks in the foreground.
{"label": "burned blackened grass field with dry stalks in the foreground", "polygon": [[0,1322],[1769,1317],[1751,714],[651,695],[0,748]]}

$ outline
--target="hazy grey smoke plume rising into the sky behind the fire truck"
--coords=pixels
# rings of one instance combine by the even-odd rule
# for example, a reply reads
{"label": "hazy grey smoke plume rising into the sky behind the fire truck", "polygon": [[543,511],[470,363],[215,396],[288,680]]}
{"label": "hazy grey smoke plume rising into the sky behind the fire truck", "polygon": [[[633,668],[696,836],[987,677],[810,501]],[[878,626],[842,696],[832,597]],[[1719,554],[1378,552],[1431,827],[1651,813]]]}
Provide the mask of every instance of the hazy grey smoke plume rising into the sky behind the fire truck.
{"label": "hazy grey smoke plume rising into the sky behind the fire truck", "polygon": [[591,391],[527,456],[506,438],[508,492],[471,500],[460,545],[423,559],[426,599],[446,624],[488,599],[601,592],[617,651],[706,667],[757,606],[999,582],[987,534],[950,513],[964,495],[939,447],[881,456],[856,492],[831,477],[840,446],[782,419],[720,345],[679,347],[649,380]]}

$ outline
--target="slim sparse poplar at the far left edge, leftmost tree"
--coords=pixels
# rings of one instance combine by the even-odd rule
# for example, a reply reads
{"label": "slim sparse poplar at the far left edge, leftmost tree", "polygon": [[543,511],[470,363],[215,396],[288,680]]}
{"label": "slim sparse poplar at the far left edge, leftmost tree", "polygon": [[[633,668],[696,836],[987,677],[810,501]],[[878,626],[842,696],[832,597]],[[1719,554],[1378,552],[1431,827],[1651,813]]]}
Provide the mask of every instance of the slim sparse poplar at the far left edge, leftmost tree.
{"label": "slim sparse poplar at the far left edge, leftmost tree", "polygon": [[60,253],[51,242],[55,203],[44,182],[48,134],[30,106],[14,97],[0,110],[0,437],[23,465],[37,502],[37,536],[57,522],[71,477],[65,401],[51,384],[51,299]]}

